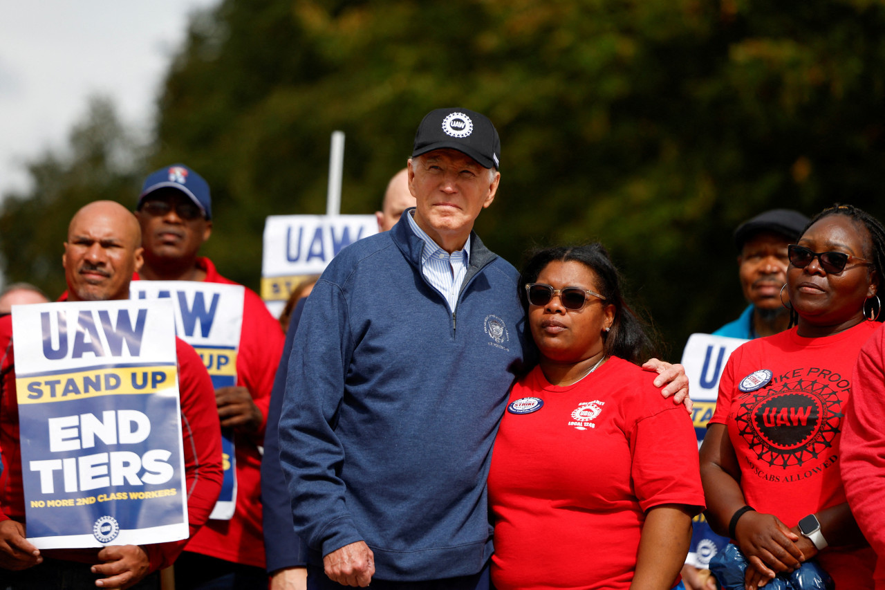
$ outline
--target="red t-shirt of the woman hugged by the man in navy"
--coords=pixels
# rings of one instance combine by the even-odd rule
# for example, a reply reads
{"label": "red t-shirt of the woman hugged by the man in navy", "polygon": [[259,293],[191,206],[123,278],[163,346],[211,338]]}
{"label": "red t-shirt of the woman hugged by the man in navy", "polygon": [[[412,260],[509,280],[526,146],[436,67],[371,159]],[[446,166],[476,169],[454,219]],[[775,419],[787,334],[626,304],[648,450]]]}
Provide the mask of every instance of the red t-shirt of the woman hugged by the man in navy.
{"label": "red t-shirt of the woman hugged by the man in navy", "polygon": [[704,507],[691,418],[654,377],[611,358],[573,385],[536,367],[513,386],[489,473],[498,590],[626,590],[645,512]]}

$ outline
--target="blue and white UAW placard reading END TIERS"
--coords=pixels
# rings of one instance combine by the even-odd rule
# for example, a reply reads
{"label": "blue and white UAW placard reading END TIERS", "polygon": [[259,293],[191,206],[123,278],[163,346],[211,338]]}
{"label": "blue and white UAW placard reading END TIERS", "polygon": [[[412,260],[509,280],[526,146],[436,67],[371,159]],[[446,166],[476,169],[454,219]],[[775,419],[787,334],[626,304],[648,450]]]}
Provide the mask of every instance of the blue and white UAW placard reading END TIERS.
{"label": "blue and white UAW placard reading END TIERS", "polygon": [[42,549],[189,534],[172,306],[16,306],[27,537]]}

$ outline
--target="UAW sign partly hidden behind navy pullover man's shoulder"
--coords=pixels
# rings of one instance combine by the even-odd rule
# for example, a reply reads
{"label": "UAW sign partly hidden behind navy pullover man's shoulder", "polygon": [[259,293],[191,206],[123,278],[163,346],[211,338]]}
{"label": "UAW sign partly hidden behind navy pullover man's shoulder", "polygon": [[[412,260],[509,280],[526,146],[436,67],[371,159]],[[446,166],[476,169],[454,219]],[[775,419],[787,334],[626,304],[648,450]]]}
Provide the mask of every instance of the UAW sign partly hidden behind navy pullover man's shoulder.
{"label": "UAW sign partly hidden behind navy pullover man's shoulder", "polygon": [[306,276],[319,275],[338,252],[378,233],[374,215],[271,215],[265,222],[261,299],[279,317]]}

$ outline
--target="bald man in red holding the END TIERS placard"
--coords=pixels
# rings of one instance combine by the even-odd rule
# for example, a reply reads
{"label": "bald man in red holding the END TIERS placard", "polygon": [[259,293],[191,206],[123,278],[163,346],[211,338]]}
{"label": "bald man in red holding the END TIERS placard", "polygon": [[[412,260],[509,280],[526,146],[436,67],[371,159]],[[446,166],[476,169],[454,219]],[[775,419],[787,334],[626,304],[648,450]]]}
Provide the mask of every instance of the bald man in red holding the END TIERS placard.
{"label": "bald man in red holding the END TIERS placard", "polygon": [[[129,299],[129,282],[142,266],[135,215],[118,203],[96,201],[74,214],[62,263],[69,301]],[[176,338],[181,432],[188,488],[190,535],[209,518],[221,489],[221,440],[212,379],[193,348]],[[8,480],[0,486],[0,578],[25,588],[158,588],[159,568],[173,563],[188,540],[153,545],[110,545],[100,551],[40,551],[27,541],[21,483],[19,409],[12,318],[0,318],[0,454]],[[5,571],[4,571],[5,570]],[[149,575],[150,574],[150,575]]]}

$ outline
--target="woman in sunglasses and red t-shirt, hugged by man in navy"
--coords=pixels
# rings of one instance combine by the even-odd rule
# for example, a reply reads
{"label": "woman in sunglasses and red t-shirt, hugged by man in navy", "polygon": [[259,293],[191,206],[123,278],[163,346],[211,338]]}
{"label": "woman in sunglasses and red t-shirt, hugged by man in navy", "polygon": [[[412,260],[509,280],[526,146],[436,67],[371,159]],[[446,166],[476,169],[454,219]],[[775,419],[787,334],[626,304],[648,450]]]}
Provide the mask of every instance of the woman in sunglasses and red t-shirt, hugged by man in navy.
{"label": "woman in sunglasses and red t-shirt, hugged by man in navy", "polygon": [[650,340],[602,245],[539,252],[520,276],[541,353],[513,386],[489,504],[497,590],[666,590],[704,506],[688,413],[636,364]]}

